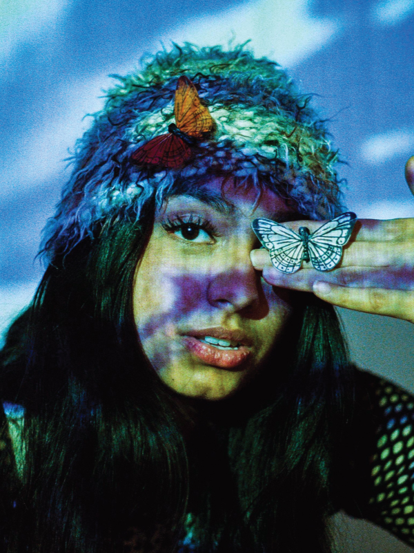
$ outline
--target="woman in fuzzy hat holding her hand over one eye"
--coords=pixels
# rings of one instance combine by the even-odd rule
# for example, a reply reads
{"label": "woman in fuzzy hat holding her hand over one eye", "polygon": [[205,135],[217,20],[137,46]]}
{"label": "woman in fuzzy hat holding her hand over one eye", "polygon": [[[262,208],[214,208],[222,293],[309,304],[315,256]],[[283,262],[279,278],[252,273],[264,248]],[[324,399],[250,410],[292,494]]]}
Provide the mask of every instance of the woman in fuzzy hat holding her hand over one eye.
{"label": "woman in fuzzy hat holding her hand over one eye", "polygon": [[255,249],[258,217],[344,211],[308,100],[242,48],[110,91],[1,357],[4,551],[328,552],[337,509],[411,543],[414,402],[331,303],[413,321],[413,222],[359,222],[323,277]]}

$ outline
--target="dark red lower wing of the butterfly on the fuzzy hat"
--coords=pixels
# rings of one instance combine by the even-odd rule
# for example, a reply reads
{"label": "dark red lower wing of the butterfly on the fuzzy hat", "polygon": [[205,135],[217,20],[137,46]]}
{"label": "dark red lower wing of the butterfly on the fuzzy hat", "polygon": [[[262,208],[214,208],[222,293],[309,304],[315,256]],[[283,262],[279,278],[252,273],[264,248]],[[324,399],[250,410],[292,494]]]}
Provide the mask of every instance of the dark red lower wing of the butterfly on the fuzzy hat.
{"label": "dark red lower wing of the butterfly on the fuzzy hat", "polygon": [[161,134],[146,142],[132,153],[131,160],[137,165],[150,163],[151,165],[162,165],[163,167],[179,167],[191,156],[191,150],[179,138],[172,133]]}

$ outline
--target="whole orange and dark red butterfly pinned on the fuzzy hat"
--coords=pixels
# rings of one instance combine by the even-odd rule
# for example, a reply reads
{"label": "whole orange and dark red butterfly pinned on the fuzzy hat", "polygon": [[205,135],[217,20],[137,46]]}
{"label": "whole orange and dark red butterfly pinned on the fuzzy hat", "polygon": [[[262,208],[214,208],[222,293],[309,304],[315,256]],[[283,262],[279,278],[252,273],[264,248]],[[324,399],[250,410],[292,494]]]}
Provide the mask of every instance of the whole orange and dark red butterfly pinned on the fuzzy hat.
{"label": "whole orange and dark red butterfly pinned on the fuzzy hat", "polygon": [[152,138],[132,153],[137,165],[150,163],[179,167],[191,156],[190,146],[215,127],[215,120],[200,102],[197,89],[187,77],[179,77],[174,99],[175,124],[168,125],[168,134]]}

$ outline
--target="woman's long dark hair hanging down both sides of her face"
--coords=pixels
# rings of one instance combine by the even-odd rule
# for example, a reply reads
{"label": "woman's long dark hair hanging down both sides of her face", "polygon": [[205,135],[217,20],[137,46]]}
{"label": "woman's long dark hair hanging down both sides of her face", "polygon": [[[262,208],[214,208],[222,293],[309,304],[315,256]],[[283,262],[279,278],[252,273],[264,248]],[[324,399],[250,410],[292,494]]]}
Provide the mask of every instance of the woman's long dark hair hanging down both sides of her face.
{"label": "woman's long dark hair hanging down both sides of her face", "polygon": [[190,525],[203,553],[328,552],[331,480],[352,404],[333,308],[298,294],[255,386],[193,402],[188,424],[133,324],[152,212],[108,220],[57,254],[10,328],[1,395],[26,410],[26,461],[21,479],[10,466],[5,476],[4,551],[133,552],[157,541],[168,552]]}

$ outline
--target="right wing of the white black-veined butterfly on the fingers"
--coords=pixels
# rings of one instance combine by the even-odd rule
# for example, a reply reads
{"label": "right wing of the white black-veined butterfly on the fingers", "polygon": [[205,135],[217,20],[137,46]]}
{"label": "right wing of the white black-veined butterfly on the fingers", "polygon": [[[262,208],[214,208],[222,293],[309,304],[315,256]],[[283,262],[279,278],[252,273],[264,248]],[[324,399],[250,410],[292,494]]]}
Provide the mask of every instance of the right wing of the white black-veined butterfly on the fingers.
{"label": "right wing of the white black-veined butterfly on the fingers", "polygon": [[351,238],[356,221],[355,213],[343,213],[309,236],[309,256],[316,270],[330,271],[335,268],[342,257],[342,247]]}

